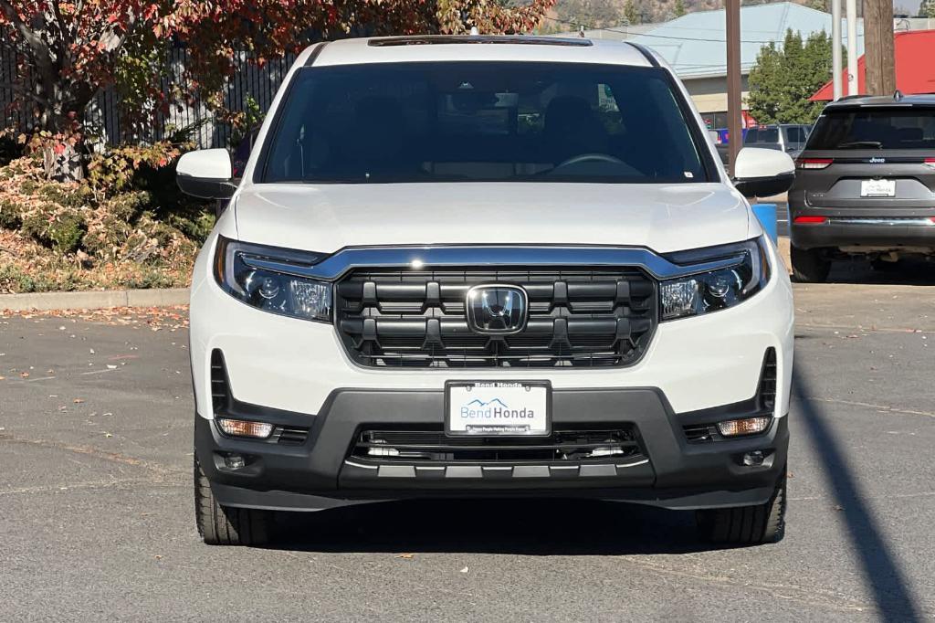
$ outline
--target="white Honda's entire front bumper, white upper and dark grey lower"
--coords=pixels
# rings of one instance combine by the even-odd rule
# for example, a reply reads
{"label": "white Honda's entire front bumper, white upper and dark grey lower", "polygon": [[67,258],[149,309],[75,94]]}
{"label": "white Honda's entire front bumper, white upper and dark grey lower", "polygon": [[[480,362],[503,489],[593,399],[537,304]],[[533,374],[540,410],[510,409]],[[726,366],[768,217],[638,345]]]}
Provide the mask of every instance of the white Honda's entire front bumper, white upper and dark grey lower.
{"label": "white Honda's entire front bumper, white upper and dark grey lower", "polygon": [[[209,239],[194,269],[191,356],[196,452],[222,504],[318,510],[426,496],[560,496],[741,506],[769,500],[784,470],[794,318],[791,286],[772,245],[777,269],[761,292],[732,309],[657,326],[645,355],[626,368],[367,369],[349,358],[334,326],[262,312],[224,293],[210,272],[215,242]],[[770,429],[753,438],[687,442],[685,425],[750,414],[744,409],[770,349]],[[216,351],[225,360],[231,415],[305,428],[307,439],[286,445],[223,437],[213,422]],[[458,380],[549,381],[554,427],[631,424],[647,460],[431,466],[442,470],[347,463],[361,427],[440,427],[443,388]],[[755,450],[767,451],[768,460],[743,466],[740,457]],[[247,466],[225,467],[228,454],[245,456]]]}

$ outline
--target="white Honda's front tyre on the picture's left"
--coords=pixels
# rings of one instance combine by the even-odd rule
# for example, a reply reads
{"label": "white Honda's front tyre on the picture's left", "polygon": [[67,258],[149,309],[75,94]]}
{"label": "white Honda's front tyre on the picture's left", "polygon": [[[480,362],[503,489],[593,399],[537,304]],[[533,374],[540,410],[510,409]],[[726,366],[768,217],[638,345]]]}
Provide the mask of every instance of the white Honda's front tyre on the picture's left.
{"label": "white Honda's front tyre on the picture's left", "polygon": [[214,499],[208,476],[194,457],[194,520],[209,545],[263,545],[269,542],[273,514],[252,508],[222,506]]}

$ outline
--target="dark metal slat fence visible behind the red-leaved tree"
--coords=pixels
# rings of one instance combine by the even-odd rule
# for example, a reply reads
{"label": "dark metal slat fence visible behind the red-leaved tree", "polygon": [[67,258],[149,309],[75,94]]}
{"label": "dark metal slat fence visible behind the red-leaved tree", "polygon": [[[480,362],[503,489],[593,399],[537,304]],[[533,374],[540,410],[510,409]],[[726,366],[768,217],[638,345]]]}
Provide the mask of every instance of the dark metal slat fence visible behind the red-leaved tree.
{"label": "dark metal slat fence visible behind the red-leaved tree", "polygon": [[[287,54],[281,59],[267,61],[261,67],[251,63],[246,53],[238,54],[237,70],[225,84],[225,108],[234,112],[246,110],[252,98],[259,109],[266,112],[294,61],[295,54]],[[168,94],[173,87],[181,84],[188,64],[187,48],[177,47],[170,51],[166,71],[160,80],[163,93]],[[18,101],[14,91],[14,85],[18,82],[17,65],[16,52],[0,44],[0,127],[28,132],[35,126],[36,120],[29,107],[15,105]],[[160,140],[183,128],[192,130],[191,138],[199,148],[226,147],[231,138],[230,124],[219,123],[214,114],[199,101],[173,105],[168,114],[157,115],[155,125],[145,136],[130,131],[128,124],[121,118],[121,109],[117,90],[112,87],[102,90],[85,111],[85,125],[91,134],[108,145]]]}

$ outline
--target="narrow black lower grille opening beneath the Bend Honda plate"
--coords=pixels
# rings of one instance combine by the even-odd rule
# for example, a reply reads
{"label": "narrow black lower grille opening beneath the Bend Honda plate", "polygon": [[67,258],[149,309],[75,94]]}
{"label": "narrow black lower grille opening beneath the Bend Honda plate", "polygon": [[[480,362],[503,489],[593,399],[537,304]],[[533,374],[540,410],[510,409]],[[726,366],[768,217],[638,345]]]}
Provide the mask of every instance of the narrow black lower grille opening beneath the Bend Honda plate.
{"label": "narrow black lower grille opening beneath the Bend Honda plate", "polygon": [[614,461],[642,455],[636,429],[556,430],[548,437],[448,437],[442,430],[361,430],[351,455],[379,462]]}

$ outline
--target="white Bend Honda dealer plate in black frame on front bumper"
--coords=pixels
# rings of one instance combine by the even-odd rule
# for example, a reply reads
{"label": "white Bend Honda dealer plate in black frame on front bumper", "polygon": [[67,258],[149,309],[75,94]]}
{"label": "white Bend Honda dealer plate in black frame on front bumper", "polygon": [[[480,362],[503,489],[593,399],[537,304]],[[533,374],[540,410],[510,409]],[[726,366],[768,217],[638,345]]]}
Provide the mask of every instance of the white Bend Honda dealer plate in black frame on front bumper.
{"label": "white Bend Honda dealer plate in black frame on front bumper", "polygon": [[548,435],[552,427],[551,393],[552,386],[546,381],[450,381],[445,384],[445,433]]}

